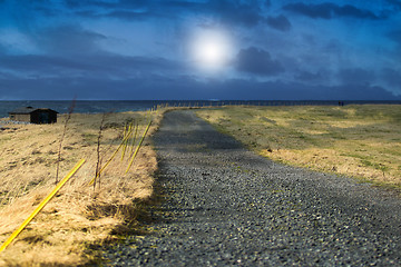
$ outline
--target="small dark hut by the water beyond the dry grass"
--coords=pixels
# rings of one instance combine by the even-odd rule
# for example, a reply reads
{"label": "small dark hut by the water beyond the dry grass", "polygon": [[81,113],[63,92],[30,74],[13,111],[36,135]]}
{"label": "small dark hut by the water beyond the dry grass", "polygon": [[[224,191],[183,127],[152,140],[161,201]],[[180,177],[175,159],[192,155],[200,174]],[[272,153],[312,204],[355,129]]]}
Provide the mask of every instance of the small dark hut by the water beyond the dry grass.
{"label": "small dark hut by the water beyond the dry grass", "polygon": [[56,123],[57,111],[48,108],[25,107],[9,112],[10,120],[30,123]]}

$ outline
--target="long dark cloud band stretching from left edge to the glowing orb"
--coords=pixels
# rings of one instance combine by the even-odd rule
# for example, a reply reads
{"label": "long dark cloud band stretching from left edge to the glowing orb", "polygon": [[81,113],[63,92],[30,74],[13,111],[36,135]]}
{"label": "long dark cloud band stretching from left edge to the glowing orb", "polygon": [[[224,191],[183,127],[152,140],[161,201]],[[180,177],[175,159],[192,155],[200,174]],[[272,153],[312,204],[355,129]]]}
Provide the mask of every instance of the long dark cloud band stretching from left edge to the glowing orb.
{"label": "long dark cloud band stretching from left edge to the glowing orb", "polygon": [[22,77],[114,77],[129,79],[151,73],[184,72],[185,67],[163,58],[96,53],[81,57],[4,56],[2,69]]}

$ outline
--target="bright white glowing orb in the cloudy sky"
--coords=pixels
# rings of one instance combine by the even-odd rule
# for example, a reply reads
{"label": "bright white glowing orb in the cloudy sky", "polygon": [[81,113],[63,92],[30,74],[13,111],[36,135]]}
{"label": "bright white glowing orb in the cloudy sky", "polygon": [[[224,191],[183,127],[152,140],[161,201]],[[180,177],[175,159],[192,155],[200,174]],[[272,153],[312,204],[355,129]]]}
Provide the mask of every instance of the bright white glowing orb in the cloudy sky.
{"label": "bright white glowing orb in the cloudy sky", "polygon": [[218,70],[229,60],[232,43],[223,31],[204,29],[196,33],[190,46],[195,63],[206,70]]}

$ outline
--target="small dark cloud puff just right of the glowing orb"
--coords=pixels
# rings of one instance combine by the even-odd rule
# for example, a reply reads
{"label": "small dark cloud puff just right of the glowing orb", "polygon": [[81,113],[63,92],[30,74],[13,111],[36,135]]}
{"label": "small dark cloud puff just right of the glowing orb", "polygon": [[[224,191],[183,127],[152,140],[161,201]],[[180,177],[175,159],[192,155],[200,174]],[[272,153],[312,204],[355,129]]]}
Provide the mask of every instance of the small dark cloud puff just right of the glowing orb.
{"label": "small dark cloud puff just right of the glowing orb", "polygon": [[283,66],[271,55],[255,47],[242,49],[236,57],[236,69],[258,76],[274,76],[284,71]]}

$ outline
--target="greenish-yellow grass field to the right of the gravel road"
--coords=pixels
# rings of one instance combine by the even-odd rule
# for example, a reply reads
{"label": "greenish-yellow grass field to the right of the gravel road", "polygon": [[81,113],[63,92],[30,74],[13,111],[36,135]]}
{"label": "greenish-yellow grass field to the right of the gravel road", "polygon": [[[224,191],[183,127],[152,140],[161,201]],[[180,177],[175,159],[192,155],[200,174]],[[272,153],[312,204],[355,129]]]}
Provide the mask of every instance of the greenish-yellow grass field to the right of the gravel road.
{"label": "greenish-yellow grass field to the right of the gravel road", "polygon": [[273,160],[401,188],[401,106],[225,107],[197,115]]}

